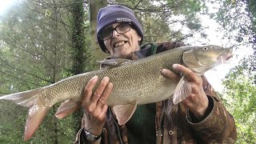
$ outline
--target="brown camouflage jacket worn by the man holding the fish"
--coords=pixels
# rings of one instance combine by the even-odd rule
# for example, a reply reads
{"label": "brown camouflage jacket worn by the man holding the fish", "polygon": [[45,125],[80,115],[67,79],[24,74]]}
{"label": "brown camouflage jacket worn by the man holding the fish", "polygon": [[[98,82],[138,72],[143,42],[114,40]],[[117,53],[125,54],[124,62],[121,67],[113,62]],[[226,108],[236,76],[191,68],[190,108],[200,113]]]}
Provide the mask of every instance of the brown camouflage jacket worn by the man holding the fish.
{"label": "brown camouflage jacket worn by the man holding the fish", "polygon": [[[142,46],[142,50],[134,52],[131,59],[147,57],[179,46],[183,45],[178,42],[150,43]],[[210,102],[205,118],[199,121],[181,103],[174,105],[172,99],[157,102],[155,116],[156,143],[234,143],[236,141],[237,131],[234,118],[223,106],[214,89],[207,82],[206,77],[202,76],[202,80],[203,88]],[[169,108],[166,109],[166,107]],[[84,126],[83,123],[82,126]],[[109,108],[101,143],[128,142],[126,126],[118,126],[112,110]],[[74,143],[88,143],[83,127],[78,131]]]}

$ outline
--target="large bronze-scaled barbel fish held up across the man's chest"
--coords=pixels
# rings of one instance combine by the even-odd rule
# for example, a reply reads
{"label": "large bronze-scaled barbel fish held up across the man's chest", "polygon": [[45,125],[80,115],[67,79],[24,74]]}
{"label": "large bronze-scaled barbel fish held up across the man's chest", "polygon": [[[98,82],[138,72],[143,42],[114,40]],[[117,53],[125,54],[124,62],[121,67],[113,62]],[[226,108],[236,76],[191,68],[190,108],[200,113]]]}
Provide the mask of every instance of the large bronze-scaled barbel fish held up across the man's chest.
{"label": "large bronze-scaled barbel fish held up across the man's chest", "polygon": [[201,76],[206,70],[226,62],[231,55],[230,48],[209,45],[183,46],[134,61],[110,59],[102,61],[107,69],[74,75],[50,86],[9,94],[0,99],[30,108],[24,134],[24,139],[28,140],[54,104],[66,100],[55,114],[57,118],[65,117],[80,107],[82,91],[90,78],[95,75],[99,78],[108,76],[114,89],[106,104],[113,106],[118,124],[123,125],[134,114],[138,105],[160,102],[172,96],[174,104],[177,104],[190,94],[190,85],[186,78],[181,78],[177,84],[164,78],[162,69],[175,72],[172,65],[179,63]]}

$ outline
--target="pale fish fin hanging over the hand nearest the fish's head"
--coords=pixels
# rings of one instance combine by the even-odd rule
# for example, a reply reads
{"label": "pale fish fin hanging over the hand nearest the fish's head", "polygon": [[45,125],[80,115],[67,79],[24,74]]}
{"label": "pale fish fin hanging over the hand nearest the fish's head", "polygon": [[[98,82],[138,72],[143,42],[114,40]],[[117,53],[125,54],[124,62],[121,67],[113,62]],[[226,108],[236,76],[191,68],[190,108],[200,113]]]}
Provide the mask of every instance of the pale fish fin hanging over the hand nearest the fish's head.
{"label": "pale fish fin hanging over the hand nearest the fish's head", "polygon": [[176,89],[174,90],[174,96],[173,96],[174,104],[176,105],[178,104],[178,102],[182,102],[182,100],[184,100],[189,96],[191,91],[192,91],[192,88],[191,88],[190,82],[187,82],[185,76],[183,76],[181,80],[178,82]]}

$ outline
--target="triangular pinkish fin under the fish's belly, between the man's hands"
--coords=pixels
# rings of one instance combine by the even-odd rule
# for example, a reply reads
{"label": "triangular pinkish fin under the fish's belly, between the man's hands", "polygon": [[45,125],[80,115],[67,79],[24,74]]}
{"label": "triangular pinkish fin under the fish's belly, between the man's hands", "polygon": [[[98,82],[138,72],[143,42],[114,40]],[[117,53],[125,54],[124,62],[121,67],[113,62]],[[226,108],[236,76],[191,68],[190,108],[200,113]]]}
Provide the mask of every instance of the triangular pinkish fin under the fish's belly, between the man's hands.
{"label": "triangular pinkish fin under the fish's belly, between the man's hands", "polygon": [[137,108],[137,102],[128,105],[115,105],[113,106],[114,114],[118,119],[118,125],[122,126],[129,121],[134,111]]}

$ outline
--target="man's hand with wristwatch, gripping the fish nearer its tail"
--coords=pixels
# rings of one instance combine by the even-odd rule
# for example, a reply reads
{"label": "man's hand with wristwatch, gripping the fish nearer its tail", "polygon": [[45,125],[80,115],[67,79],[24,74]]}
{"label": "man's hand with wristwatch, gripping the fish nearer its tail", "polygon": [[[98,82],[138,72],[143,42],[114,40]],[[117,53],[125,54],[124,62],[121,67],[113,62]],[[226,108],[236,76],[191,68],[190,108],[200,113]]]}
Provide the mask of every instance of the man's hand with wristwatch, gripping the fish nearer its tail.
{"label": "man's hand with wristwatch, gripping the fish nearer its tail", "polygon": [[98,76],[94,76],[87,83],[82,101],[82,109],[84,110],[85,129],[91,134],[102,134],[103,126],[106,122],[106,98],[110,96],[113,90],[113,84],[110,78],[104,77],[99,83],[98,87],[94,90]]}

